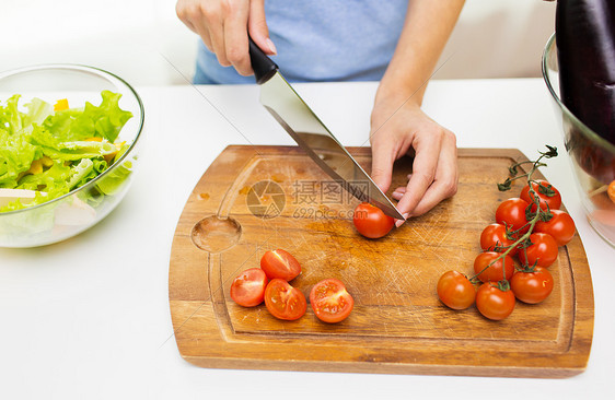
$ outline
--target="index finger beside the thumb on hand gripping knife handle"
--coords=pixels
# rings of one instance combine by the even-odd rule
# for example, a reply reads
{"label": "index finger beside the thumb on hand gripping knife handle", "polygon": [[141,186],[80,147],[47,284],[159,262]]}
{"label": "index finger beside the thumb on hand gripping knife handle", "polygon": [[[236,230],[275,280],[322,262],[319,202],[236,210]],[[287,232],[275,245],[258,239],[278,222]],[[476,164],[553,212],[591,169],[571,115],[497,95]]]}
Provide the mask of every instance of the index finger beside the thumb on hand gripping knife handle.
{"label": "index finger beside the thumb on hand gripping knife handle", "polygon": [[247,51],[250,4],[245,1],[229,4],[229,16],[224,20],[224,52],[241,75],[250,75],[253,72]]}

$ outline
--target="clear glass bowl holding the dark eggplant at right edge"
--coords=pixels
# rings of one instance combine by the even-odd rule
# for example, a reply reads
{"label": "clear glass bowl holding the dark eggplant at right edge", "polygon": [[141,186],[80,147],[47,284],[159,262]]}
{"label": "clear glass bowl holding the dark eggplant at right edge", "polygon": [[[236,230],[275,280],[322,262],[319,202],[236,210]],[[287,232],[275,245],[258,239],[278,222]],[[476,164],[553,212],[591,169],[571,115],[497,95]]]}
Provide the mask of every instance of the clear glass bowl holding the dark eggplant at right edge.
{"label": "clear glass bowl holding the dark eggplant at right edge", "polygon": [[592,227],[615,246],[615,203],[606,188],[615,180],[615,145],[588,128],[561,103],[555,34],[543,52],[543,78],[552,94],[577,188]]}

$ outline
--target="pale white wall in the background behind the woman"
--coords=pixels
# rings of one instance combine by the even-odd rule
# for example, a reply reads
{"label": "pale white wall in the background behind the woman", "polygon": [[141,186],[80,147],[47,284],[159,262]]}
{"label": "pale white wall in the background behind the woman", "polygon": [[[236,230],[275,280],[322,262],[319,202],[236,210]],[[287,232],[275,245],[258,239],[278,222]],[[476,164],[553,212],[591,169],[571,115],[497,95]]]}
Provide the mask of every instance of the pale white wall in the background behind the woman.
{"label": "pale white wall in the background behind the woman", "polygon": [[[434,79],[538,77],[554,12],[542,0],[467,0]],[[197,36],[175,0],[0,0],[0,71],[74,62],[136,85],[183,84],[194,72]]]}

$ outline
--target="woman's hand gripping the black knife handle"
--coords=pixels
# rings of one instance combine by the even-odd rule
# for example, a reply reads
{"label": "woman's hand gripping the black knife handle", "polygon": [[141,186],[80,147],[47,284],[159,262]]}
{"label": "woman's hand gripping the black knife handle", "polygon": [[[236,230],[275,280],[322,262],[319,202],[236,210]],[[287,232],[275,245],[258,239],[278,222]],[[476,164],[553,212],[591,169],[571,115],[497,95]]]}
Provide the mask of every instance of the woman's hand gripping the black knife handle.
{"label": "woman's hand gripping the black knife handle", "polygon": [[177,0],[177,16],[198,34],[223,67],[254,73],[247,34],[267,55],[276,55],[265,20],[265,0]]}

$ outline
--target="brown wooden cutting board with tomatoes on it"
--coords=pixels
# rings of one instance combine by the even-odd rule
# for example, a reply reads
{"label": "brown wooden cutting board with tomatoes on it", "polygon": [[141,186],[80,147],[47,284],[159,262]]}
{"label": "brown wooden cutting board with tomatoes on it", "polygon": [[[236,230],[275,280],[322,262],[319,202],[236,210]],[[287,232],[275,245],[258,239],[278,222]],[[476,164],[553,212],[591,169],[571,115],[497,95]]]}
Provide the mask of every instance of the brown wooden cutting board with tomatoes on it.
{"label": "brown wooden cutting board with tomatoes on it", "polygon": [[[369,172],[370,149],[349,151]],[[195,187],[173,239],[169,293],[179,353],[198,366],[236,369],[539,378],[583,372],[593,292],[578,235],[549,268],[552,295],[539,305],[518,303],[506,320],[487,320],[474,306],[451,310],[436,294],[443,272],[473,272],[480,232],[499,202],[521,191],[515,184],[499,192],[496,183],[523,160],[518,150],[460,149],[457,193],[370,240],[349,216],[358,200],[336,189],[298,148],[227,148]],[[396,163],[392,187],[405,185],[409,170],[409,160]],[[197,237],[214,252],[190,236],[210,215],[236,221],[201,232],[211,234],[205,242]],[[224,246],[232,247],[216,252]],[[350,317],[327,325],[308,307],[301,319],[281,321],[264,305],[234,304],[233,279],[277,248],[302,263],[291,283],[306,296],[322,279],[345,282],[356,302]]]}

